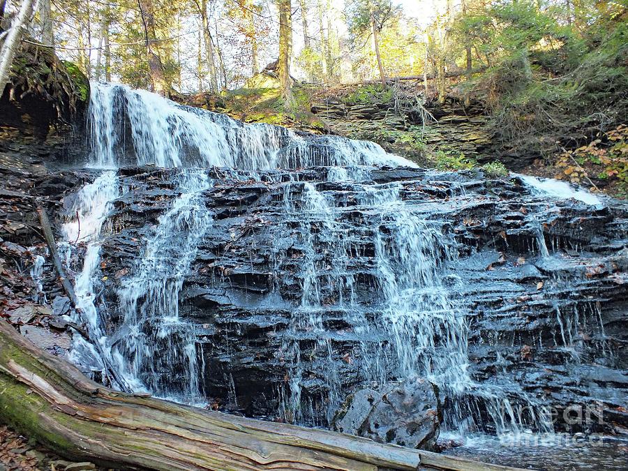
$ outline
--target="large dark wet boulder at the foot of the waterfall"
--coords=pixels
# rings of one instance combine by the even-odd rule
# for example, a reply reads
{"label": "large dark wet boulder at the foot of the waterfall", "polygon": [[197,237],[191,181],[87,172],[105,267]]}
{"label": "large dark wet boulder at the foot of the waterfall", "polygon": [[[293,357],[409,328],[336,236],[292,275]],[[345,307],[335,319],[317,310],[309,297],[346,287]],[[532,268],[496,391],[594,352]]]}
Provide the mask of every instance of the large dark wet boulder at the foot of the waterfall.
{"label": "large dark wet boulder at the foot of the waterfall", "polygon": [[440,430],[436,387],[422,378],[360,389],[347,398],[333,421],[338,432],[403,447],[433,449]]}

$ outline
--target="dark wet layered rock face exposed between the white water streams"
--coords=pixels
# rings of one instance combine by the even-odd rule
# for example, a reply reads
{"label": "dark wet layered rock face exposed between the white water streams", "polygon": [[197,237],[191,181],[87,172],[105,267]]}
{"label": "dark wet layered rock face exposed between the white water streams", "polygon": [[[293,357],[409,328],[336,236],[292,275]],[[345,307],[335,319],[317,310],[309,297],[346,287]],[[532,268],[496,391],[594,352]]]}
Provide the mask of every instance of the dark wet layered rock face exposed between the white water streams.
{"label": "dark wet layered rock face exposed between the white water streams", "polygon": [[[260,172],[260,181],[246,183],[245,172],[239,180],[237,172],[207,172],[215,180],[204,194],[214,222],[179,295],[179,315],[193,322],[204,394],[225,410],[279,417],[290,392],[285,345],[297,343],[304,368],[301,399],[317,417],[308,423],[326,426],[329,371],[338,374],[340,397],[363,388],[361,345],[388,340],[377,329],[373,242],[375,227],[381,226],[385,236],[385,221],[382,225],[381,216],[360,204],[361,184],[327,181],[325,168]],[[172,185],[176,174],[174,169],[121,170],[129,191],[114,202],[114,213],[105,225],[98,288],[102,293],[98,306],[106,313],[103,325],[109,332],[121,324],[116,290],[142,256],[144,238],[177,197]],[[41,178],[40,185],[61,201],[89,178],[82,171],[63,172]],[[539,405],[563,409],[595,401],[609,417],[595,428],[613,431],[622,426],[617,408],[620,398],[628,396],[624,203],[611,201],[598,208],[574,200],[555,201],[530,194],[516,179],[487,181],[475,172],[380,169],[371,178],[390,182],[384,186],[399,185],[405,202],[443,236],[454,238],[457,257],[440,260],[439,272],[451,299],[467,313],[468,371],[474,381],[501,387],[515,404],[521,402],[522,391]],[[317,347],[311,332],[295,337],[290,331],[302,294],[304,245],[299,233],[305,224],[285,211],[286,182],[291,179],[294,202],[303,191],[299,181],[309,181],[338,209],[334,217],[343,225],[342,239],[350,250],[346,270],[354,279],[353,295],[360,314],[373,326],[367,336],[357,334],[347,321],[351,313],[338,308],[335,294],[322,283],[320,317],[330,338],[331,357]],[[55,214],[61,224],[63,210]],[[308,222],[313,234],[321,228],[322,221]],[[6,240],[27,246],[15,234],[1,236],[5,234]],[[541,242],[548,257],[541,254]],[[333,267],[333,244],[324,238],[317,241],[315,264],[321,276]],[[45,281],[45,290],[54,299],[55,289],[62,293],[53,287],[54,274],[46,270],[50,281]],[[77,264],[70,275],[80,270]],[[54,301],[54,314],[65,309],[61,304]],[[98,369],[97,363],[82,368]],[[449,398],[441,400],[444,410],[451,408]],[[481,395],[470,391],[467,401],[470,417],[478,424],[491,424]],[[572,429],[561,421],[556,428]]]}

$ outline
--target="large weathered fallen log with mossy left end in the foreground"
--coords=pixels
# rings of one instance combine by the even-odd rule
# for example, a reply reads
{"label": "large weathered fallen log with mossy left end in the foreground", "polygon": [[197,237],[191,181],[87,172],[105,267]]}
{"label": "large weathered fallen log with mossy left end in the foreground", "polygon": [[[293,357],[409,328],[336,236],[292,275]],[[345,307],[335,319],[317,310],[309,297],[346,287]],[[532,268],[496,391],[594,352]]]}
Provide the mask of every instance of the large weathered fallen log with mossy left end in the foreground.
{"label": "large weathered fallen log with mossy left end in the foreground", "polygon": [[0,320],[0,420],[55,453],[151,470],[514,470],[112,391]]}

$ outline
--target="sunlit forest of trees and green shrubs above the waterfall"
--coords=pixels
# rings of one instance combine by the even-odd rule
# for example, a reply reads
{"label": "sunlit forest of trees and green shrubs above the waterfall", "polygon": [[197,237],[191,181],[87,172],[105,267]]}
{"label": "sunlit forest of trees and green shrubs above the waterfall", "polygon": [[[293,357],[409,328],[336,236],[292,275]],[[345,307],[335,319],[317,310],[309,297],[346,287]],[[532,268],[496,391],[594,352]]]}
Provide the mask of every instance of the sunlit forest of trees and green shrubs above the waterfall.
{"label": "sunlit forest of trees and green shrubs above the waterfall", "polygon": [[[53,48],[89,80],[163,95],[279,87],[279,106],[292,110],[307,107],[293,96],[294,84],[381,82],[386,89],[396,77],[423,78],[424,100],[444,103],[449,77],[460,77],[458,92],[465,105],[482,103],[494,142],[514,154],[564,151],[571,161],[581,156],[569,152],[598,138],[608,141],[612,130],[625,142],[618,126],[628,114],[627,5],[626,0],[0,0],[0,40],[8,57],[16,30],[11,25],[22,21],[23,43]],[[6,66],[6,57],[0,64]],[[259,78],[264,71],[266,78]],[[434,79],[429,88],[428,77]],[[628,178],[622,149],[615,152],[619,163],[604,171]]]}

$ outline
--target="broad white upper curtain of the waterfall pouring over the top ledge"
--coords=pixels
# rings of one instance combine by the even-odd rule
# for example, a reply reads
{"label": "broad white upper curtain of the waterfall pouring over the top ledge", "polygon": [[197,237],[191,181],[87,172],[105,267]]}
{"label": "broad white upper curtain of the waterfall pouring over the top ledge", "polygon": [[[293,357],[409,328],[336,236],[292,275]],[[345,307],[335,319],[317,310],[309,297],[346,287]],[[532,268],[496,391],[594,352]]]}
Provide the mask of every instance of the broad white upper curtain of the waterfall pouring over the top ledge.
{"label": "broad white upper curtain of the waterfall pouring over the top ledge", "polygon": [[244,124],[123,85],[91,84],[88,123],[91,163],[97,167],[414,166],[373,142],[336,136],[304,139],[287,128]]}

